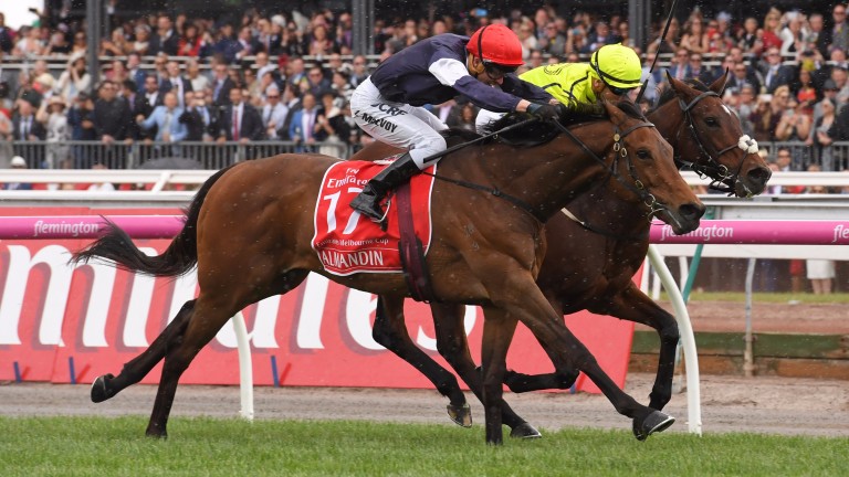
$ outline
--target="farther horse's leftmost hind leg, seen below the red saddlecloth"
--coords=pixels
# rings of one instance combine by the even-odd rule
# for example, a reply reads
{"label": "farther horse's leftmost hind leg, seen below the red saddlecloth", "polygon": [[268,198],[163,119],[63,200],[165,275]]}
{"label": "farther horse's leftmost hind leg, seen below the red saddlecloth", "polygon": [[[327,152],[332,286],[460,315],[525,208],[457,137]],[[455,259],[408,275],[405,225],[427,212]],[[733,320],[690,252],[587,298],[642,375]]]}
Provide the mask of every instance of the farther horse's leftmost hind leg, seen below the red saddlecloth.
{"label": "farther horse's leftmost hind leg, seen below the red saddlecloth", "polygon": [[472,425],[472,414],[465,394],[460,390],[457,378],[439,365],[410,339],[403,322],[403,297],[381,296],[377,299],[377,311],[371,335],[378,343],[410,363],[424,374],[440,394],[449,399],[448,415],[463,426]]}

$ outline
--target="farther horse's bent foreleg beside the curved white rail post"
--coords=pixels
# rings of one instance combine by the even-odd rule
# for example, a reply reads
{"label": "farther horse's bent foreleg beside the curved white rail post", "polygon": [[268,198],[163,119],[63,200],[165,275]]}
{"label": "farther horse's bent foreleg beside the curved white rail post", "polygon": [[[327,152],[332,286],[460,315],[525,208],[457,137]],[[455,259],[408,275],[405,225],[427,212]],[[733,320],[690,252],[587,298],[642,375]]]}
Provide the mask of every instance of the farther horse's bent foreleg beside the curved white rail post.
{"label": "farther horse's bent foreleg beside the curved white rail post", "polygon": [[660,336],[660,353],[658,356],[658,372],[654,385],[649,394],[649,406],[658,411],[662,410],[672,399],[672,377],[675,367],[675,347],[681,337],[675,318],[661,308],[633,284],[616,295],[606,305],[608,315],[648,325]]}

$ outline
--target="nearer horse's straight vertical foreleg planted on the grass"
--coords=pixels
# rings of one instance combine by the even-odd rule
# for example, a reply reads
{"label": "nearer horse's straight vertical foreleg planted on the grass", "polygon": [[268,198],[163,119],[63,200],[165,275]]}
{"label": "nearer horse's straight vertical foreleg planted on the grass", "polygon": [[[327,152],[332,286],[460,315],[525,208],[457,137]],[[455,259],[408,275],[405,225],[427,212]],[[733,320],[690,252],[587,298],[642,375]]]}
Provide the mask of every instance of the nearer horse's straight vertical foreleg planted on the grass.
{"label": "nearer horse's straight vertical foreleg planted on the grass", "polygon": [[484,307],[483,343],[481,367],[483,368],[482,402],[486,420],[486,444],[501,445],[504,436],[501,428],[506,370],[507,349],[516,331],[516,319],[495,307]]}

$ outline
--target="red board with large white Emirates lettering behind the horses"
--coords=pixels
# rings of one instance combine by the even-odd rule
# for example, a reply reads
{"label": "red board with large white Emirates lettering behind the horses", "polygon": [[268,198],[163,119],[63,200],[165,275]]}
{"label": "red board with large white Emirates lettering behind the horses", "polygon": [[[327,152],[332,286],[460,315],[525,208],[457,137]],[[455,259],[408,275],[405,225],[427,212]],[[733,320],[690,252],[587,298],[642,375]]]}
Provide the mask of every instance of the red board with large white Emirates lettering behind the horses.
{"label": "red board with large white Emirates lettering behind the horses", "polygon": [[[108,214],[103,210],[27,209],[7,214]],[[126,214],[127,210],[115,213]],[[163,213],[143,210],[133,213]],[[167,213],[177,213],[168,210]],[[73,231],[71,231],[73,233]],[[0,380],[13,380],[14,364],[25,381],[71,381],[71,360],[78,382],[119,371],[195,297],[193,274],[178,279],[133,275],[105,265],[67,265],[71,251],[87,240],[0,241]],[[136,242],[145,253],[165,250],[167,240]],[[284,296],[243,311],[253,353],[254,382],[273,383],[275,357],[284,385],[432,388],[412,367],[371,338],[376,297],[310,275]],[[408,330],[438,362],[427,305],[408,300]],[[199,317],[195,317],[199,319]],[[480,357],[483,317],[467,307],[465,329],[472,356]],[[620,385],[625,381],[633,326],[610,318],[569,317],[570,329],[588,344]],[[237,384],[235,335],[219,331],[180,382]],[[551,372],[552,364],[524,328],[507,360],[523,372]],[[143,382],[158,381],[161,364]],[[583,386],[594,390],[591,384]]]}

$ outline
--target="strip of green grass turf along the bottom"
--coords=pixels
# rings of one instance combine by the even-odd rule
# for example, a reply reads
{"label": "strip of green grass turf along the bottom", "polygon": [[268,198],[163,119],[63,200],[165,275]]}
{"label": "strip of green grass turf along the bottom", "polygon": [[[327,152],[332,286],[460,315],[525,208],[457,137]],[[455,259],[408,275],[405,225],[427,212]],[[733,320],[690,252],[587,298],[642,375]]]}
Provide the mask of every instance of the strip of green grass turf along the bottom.
{"label": "strip of green grass turf along the bottom", "polygon": [[[804,418],[804,416],[800,416]],[[12,476],[845,476],[849,441],[564,430],[484,444],[481,425],[144,417],[0,417]]]}

